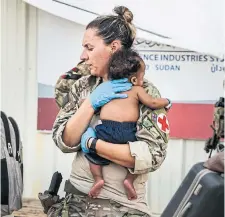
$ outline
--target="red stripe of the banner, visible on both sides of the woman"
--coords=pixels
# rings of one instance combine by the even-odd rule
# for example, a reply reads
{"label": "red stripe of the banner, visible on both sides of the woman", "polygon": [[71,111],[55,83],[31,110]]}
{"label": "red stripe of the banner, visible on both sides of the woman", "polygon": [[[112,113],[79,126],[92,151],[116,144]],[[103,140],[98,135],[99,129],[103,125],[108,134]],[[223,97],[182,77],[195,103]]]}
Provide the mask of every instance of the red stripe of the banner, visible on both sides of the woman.
{"label": "red stripe of the banner, visible on both sides of the woman", "polygon": [[[174,103],[168,113],[170,137],[207,139],[212,135],[212,104]],[[54,99],[38,99],[38,130],[51,130],[59,109]]]}

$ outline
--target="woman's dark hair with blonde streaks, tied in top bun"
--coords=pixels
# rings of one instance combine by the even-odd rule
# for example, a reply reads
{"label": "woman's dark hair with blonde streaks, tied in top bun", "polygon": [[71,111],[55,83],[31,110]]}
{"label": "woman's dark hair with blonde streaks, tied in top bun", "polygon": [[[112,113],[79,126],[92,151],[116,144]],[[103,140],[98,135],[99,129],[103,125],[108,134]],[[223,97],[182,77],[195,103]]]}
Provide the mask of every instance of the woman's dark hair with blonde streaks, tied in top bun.
{"label": "woman's dark hair with blonde streaks, tied in top bun", "polygon": [[120,40],[124,48],[130,48],[136,36],[136,28],[132,24],[133,14],[124,7],[114,8],[117,15],[102,15],[91,21],[86,29],[95,28],[97,35],[101,36],[105,44]]}

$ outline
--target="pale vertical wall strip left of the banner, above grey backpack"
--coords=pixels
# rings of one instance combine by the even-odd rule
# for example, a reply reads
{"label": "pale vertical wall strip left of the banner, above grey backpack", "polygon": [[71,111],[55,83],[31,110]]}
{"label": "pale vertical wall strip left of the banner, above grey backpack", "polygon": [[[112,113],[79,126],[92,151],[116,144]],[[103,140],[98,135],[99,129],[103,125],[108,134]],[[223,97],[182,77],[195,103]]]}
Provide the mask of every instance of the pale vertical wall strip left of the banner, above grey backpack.
{"label": "pale vertical wall strip left of the banner, above grey backpack", "polygon": [[36,9],[2,0],[1,110],[18,122],[24,144],[24,195],[32,195],[37,126]]}

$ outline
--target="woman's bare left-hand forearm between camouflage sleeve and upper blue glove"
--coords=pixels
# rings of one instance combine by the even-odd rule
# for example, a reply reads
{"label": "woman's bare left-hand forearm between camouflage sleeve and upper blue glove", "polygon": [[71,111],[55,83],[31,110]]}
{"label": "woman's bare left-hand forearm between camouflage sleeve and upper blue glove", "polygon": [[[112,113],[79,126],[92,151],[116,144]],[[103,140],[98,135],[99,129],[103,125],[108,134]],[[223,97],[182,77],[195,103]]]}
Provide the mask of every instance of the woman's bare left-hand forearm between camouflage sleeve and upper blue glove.
{"label": "woman's bare left-hand forearm between camouflage sleeve and upper blue glove", "polygon": [[88,127],[93,115],[94,109],[89,99],[86,99],[77,112],[68,120],[63,131],[63,142],[67,146],[73,147],[80,142],[81,136]]}

